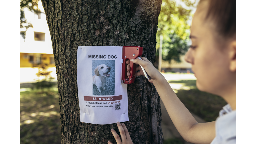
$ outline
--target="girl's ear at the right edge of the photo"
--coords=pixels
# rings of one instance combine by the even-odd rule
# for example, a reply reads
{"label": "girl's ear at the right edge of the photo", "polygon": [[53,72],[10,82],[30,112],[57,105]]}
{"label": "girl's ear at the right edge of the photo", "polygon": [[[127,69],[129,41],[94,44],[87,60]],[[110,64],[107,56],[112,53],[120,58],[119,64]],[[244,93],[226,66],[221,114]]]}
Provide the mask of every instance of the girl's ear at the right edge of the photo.
{"label": "girl's ear at the right edge of the photo", "polygon": [[230,43],[229,60],[229,70],[231,72],[236,72],[236,40]]}

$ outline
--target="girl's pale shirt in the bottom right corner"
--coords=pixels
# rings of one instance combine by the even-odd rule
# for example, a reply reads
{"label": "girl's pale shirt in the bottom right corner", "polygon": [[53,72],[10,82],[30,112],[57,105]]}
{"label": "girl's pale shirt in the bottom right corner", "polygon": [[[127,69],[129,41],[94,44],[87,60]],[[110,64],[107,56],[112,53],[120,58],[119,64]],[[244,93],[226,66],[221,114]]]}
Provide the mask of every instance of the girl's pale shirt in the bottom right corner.
{"label": "girl's pale shirt in the bottom right corner", "polygon": [[236,111],[227,104],[219,112],[215,123],[216,137],[211,144],[236,143]]}

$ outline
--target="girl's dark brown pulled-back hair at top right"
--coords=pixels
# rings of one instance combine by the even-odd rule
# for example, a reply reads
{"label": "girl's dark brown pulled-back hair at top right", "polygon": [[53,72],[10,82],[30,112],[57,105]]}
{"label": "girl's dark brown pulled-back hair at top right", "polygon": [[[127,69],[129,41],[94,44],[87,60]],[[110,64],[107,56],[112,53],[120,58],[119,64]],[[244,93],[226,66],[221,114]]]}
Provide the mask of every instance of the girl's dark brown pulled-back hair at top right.
{"label": "girl's dark brown pulled-back hair at top right", "polygon": [[208,1],[208,12],[205,19],[210,18],[216,24],[216,31],[224,38],[236,34],[236,1],[235,0],[200,0]]}

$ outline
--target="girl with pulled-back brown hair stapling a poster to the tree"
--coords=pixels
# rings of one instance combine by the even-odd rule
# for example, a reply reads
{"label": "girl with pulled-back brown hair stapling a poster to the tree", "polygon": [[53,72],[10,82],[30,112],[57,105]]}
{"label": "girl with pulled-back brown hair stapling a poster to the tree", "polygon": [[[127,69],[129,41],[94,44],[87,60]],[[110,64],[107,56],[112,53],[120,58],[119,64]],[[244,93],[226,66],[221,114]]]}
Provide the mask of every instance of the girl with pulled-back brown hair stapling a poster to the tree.
{"label": "girl with pulled-back brown hair stapling a poster to the tree", "polygon": [[[185,60],[192,64],[199,90],[221,96],[228,104],[216,121],[197,123],[178,99],[163,75],[146,59],[131,59],[145,68],[181,136],[197,144],[236,143],[236,1],[200,0],[191,24],[192,45]],[[130,61],[127,61],[130,63]],[[127,66],[127,76],[130,66]],[[141,70],[141,67],[137,67]],[[142,71],[137,76],[144,75]],[[111,129],[117,144],[131,144],[126,126],[117,122],[121,139]],[[108,141],[108,144],[112,144]]]}

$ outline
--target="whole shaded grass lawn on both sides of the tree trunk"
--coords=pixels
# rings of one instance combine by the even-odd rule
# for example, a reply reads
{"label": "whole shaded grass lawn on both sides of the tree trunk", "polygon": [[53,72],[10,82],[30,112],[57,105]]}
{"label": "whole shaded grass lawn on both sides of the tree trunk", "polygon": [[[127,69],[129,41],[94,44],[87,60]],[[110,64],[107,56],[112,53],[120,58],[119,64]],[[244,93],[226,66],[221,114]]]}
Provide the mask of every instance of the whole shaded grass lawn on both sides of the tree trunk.
{"label": "whole shaded grass lawn on both sides of the tree trunk", "polygon": [[[171,80],[179,99],[189,111],[205,121],[214,121],[226,102],[219,96],[201,92],[196,80]],[[30,89],[23,85],[20,92],[20,143],[60,144],[60,114],[57,87],[42,90]],[[165,144],[179,144],[177,139],[166,140]]]}

